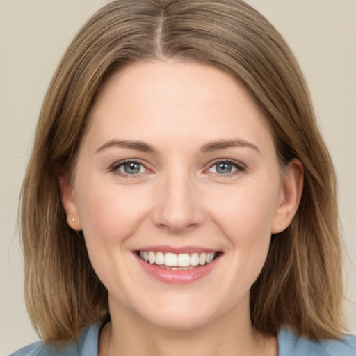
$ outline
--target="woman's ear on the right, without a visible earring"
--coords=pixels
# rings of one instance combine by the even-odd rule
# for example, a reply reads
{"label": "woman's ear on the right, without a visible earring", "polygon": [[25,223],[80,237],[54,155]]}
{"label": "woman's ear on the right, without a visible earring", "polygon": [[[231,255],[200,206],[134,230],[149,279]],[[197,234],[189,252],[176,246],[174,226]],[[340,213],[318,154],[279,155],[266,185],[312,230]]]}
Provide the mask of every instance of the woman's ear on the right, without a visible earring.
{"label": "woman's ear on the right, without a visible earring", "polygon": [[302,197],[304,170],[298,159],[292,159],[286,167],[273,215],[272,234],[286,229],[299,206]]}

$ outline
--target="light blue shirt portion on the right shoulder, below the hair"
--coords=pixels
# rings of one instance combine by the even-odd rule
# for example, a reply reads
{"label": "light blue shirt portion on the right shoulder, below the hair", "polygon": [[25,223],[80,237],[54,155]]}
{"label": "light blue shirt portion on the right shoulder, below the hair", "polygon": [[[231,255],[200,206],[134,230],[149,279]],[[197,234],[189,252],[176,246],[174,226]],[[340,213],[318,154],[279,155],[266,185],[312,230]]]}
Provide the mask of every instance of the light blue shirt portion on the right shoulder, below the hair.
{"label": "light blue shirt portion on the right shoulder, below the hair", "polygon": [[291,329],[278,332],[279,356],[356,356],[356,337],[346,335],[341,339],[313,341],[298,337]]}

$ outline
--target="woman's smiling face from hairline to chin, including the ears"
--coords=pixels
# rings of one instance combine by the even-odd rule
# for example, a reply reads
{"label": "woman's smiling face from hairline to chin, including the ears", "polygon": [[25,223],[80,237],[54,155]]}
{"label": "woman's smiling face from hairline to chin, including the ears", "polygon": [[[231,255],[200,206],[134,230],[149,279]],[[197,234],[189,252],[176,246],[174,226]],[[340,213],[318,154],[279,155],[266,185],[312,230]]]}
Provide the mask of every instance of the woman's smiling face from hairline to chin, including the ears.
{"label": "woman's smiling face from hairline to chin, including the ears", "polygon": [[291,220],[285,186],[242,86],[210,66],[157,60],[106,83],[62,198],[111,312],[189,328],[248,317],[271,233]]}

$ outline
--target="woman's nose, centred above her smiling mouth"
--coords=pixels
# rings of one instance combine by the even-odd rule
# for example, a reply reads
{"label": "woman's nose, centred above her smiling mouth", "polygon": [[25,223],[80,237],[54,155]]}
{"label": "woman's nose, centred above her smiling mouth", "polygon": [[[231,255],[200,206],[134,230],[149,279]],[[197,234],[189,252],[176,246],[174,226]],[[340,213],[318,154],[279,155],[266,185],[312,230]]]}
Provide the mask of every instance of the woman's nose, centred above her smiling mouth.
{"label": "woman's nose, centred above her smiling mouth", "polygon": [[156,226],[174,234],[202,224],[202,199],[188,177],[175,175],[163,179],[159,184],[152,220]]}

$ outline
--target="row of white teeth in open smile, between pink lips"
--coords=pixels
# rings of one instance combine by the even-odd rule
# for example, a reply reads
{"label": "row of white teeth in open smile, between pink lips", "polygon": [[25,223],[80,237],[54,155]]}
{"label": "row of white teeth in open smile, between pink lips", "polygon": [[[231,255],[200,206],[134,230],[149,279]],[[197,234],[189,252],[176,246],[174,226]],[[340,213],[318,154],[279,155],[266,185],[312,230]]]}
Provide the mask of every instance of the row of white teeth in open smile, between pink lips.
{"label": "row of white teeth in open smile, between pink lips", "polygon": [[199,266],[210,264],[221,252],[175,254],[172,252],[137,251],[136,254],[148,264],[154,264],[161,268],[170,270],[191,270]]}

